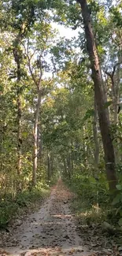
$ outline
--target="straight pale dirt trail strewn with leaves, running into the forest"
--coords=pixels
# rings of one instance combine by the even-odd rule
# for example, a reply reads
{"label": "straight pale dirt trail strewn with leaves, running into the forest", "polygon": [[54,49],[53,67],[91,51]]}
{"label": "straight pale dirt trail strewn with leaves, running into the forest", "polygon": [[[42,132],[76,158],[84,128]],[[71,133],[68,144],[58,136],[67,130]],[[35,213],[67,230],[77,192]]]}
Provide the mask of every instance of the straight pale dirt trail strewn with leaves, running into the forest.
{"label": "straight pale dirt trail strewn with leaves, running into the forest", "polygon": [[38,212],[14,231],[17,247],[4,248],[11,255],[77,255],[90,253],[82,246],[69,210],[72,194],[58,181]]}

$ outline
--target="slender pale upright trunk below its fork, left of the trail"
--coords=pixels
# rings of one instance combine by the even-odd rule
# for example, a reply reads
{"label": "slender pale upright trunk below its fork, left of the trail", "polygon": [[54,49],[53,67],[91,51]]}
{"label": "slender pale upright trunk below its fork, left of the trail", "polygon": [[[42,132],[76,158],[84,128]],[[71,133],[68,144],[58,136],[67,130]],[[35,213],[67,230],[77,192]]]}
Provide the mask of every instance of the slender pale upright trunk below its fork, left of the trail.
{"label": "slender pale upright trunk below its fork, left of the trail", "polygon": [[38,94],[38,102],[35,109],[35,124],[34,124],[34,154],[33,154],[33,172],[32,172],[32,186],[36,184],[36,173],[37,173],[37,159],[38,159],[38,121],[39,121],[39,109],[41,104],[41,90]]}

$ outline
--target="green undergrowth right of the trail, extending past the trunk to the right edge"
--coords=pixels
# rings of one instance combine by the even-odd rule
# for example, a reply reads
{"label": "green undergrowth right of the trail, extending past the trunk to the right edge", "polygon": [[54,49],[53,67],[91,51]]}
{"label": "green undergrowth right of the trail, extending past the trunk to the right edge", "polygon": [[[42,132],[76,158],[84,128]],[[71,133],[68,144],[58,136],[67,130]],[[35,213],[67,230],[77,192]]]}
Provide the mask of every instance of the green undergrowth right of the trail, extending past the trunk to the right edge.
{"label": "green undergrowth right of the trail, extending past the trunk to the right edge", "polygon": [[71,180],[66,180],[66,184],[76,194],[72,210],[84,224],[106,221],[115,226],[122,225],[122,185],[116,185],[118,194],[112,199],[103,173],[98,179],[77,173]]}

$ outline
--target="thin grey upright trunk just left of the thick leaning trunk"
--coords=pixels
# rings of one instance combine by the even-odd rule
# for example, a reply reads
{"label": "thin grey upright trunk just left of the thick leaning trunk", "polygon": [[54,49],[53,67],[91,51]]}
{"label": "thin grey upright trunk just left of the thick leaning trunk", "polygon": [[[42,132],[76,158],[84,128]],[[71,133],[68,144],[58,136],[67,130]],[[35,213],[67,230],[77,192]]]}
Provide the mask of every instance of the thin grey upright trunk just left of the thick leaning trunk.
{"label": "thin grey upright trunk just left of the thick leaning trunk", "polygon": [[98,168],[98,158],[99,158],[99,143],[98,143],[98,113],[97,113],[97,105],[94,98],[94,123],[93,123],[93,134],[94,134],[94,167]]}

